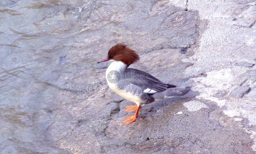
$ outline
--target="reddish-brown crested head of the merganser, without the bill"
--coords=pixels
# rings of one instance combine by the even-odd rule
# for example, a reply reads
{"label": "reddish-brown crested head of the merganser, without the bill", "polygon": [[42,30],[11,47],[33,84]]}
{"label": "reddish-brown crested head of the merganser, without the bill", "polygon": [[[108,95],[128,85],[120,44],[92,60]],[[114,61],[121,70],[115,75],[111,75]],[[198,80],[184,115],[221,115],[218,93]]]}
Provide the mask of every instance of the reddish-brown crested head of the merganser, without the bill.
{"label": "reddish-brown crested head of the merganser, without the bill", "polygon": [[139,55],[134,50],[121,43],[112,46],[108,51],[107,57],[109,60],[123,62],[127,67],[140,60]]}

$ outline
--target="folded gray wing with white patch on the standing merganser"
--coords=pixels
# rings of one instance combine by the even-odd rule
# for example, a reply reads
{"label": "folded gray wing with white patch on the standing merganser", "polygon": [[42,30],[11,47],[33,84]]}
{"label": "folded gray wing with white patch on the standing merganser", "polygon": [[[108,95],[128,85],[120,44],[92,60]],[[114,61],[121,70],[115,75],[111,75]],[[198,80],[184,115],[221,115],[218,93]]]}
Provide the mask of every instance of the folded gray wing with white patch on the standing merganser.
{"label": "folded gray wing with white patch on the standing merganser", "polygon": [[143,92],[148,94],[154,94],[156,92],[164,92],[168,88],[176,87],[171,84],[165,84],[155,78],[154,76],[150,75],[141,70],[136,70],[133,68],[127,68],[124,71],[124,79],[130,81],[131,84],[140,87]]}

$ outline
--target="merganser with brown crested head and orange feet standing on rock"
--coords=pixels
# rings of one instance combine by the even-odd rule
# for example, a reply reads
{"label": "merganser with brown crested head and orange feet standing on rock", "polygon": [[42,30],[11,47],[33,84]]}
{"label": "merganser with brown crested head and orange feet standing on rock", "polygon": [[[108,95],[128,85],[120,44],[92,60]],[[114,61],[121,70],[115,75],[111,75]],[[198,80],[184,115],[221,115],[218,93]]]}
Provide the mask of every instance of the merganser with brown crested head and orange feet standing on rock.
{"label": "merganser with brown crested head and orange feet standing on rock", "polygon": [[128,106],[124,110],[129,113],[136,110],[135,115],[122,121],[126,125],[136,120],[141,105],[174,96],[183,96],[191,89],[190,86],[165,84],[149,73],[128,68],[139,60],[140,57],[134,50],[124,44],[116,44],[108,51],[107,58],[98,62],[113,61],[106,71],[108,86],[124,99],[137,104]]}

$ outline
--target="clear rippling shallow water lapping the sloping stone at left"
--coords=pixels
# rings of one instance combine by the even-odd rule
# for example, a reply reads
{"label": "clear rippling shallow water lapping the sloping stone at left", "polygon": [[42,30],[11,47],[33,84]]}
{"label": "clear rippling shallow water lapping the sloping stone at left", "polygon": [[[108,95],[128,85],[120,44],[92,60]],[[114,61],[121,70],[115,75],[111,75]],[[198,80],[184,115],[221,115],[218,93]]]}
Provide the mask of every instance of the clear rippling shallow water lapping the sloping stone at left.
{"label": "clear rippling shallow water lapping the sloping stone at left", "polygon": [[[77,49],[83,47],[75,48],[84,35],[79,33],[79,21],[87,4],[0,2],[0,153],[63,153],[43,134],[59,120],[54,119],[53,110],[72,97],[65,95],[65,89],[79,90],[68,83],[69,78],[90,64],[77,55]],[[63,94],[56,94],[57,89],[63,89]]]}

